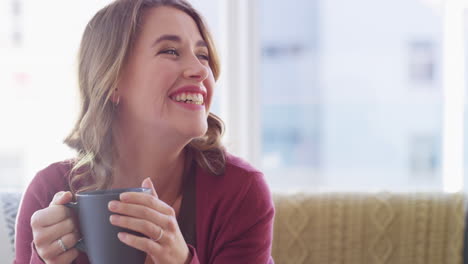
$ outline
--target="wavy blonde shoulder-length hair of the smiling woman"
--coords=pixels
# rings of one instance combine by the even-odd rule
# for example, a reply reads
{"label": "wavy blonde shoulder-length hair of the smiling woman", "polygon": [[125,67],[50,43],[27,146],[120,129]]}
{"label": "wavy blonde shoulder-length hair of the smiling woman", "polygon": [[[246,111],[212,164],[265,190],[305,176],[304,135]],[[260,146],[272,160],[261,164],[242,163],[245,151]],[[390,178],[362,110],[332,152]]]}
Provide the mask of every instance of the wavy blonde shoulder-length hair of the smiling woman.
{"label": "wavy blonde shoulder-length hair of the smiling woman", "polygon": [[[220,62],[215,45],[202,16],[184,0],[116,0],[101,9],[88,23],[78,55],[78,81],[81,111],[65,143],[77,150],[70,172],[69,187],[75,194],[87,190],[107,189],[113,182],[114,139],[112,122],[114,104],[111,96],[132,49],[145,10],[170,6],[193,18],[208,44],[209,65],[215,80]],[[208,130],[193,139],[190,149],[197,164],[220,175],[224,172],[225,152],[221,144],[223,121],[209,113]],[[78,186],[78,188],[77,188]]]}

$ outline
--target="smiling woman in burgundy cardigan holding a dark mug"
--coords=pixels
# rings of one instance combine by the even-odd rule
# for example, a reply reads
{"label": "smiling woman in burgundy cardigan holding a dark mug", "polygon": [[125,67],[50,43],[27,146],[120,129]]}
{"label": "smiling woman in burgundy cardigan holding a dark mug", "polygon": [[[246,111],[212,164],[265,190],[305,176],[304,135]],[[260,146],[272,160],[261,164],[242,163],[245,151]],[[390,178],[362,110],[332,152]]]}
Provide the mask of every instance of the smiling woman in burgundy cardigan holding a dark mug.
{"label": "smiling woman in burgundy cardigan holding a dark mug", "polygon": [[[272,263],[274,208],[261,172],[226,153],[209,113],[219,61],[184,0],[117,0],[89,22],[79,53],[78,156],[40,171],[24,194],[15,263],[88,263],[73,246],[77,192],[148,187],[111,202],[119,239],[146,263]],[[164,221],[163,221],[164,220]]]}

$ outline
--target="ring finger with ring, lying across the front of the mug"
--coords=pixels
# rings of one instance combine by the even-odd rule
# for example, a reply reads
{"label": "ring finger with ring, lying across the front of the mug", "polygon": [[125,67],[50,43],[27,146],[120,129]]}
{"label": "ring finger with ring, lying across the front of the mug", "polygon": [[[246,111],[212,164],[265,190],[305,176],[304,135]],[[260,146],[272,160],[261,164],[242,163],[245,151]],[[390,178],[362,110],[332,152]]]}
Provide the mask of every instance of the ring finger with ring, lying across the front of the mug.
{"label": "ring finger with ring, lying across the front of the mug", "polygon": [[[126,228],[132,231],[136,231],[152,239],[158,239],[161,233],[164,232],[162,231],[163,229],[158,225],[155,225],[143,219],[137,219],[137,218],[128,217],[128,216],[111,215],[110,222],[115,226]],[[162,243],[163,239],[164,239],[164,236],[160,238],[159,242]]]}

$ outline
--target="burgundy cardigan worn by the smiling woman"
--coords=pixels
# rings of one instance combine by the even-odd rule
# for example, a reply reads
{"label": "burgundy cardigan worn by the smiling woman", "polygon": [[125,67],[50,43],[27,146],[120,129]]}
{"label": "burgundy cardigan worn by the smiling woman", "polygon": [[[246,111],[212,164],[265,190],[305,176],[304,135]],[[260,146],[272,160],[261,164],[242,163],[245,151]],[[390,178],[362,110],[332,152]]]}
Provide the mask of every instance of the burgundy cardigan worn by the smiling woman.
{"label": "burgundy cardigan worn by the smiling woman", "polygon": [[[55,193],[69,190],[70,162],[40,171],[23,195],[16,222],[16,264],[44,263],[34,249],[30,219],[47,207]],[[273,263],[274,206],[263,174],[227,154],[226,170],[215,176],[195,166],[196,245],[190,245],[192,264]],[[196,248],[195,248],[196,247]],[[76,264],[88,264],[80,253]]]}

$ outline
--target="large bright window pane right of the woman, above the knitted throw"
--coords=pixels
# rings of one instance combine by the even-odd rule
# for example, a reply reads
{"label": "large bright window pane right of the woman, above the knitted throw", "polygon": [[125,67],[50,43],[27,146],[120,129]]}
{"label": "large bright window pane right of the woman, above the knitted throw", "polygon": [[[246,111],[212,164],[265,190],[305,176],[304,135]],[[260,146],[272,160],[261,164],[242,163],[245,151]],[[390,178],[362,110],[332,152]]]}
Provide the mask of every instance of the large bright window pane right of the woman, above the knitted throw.
{"label": "large bright window pane right of the woman, above the knitted throw", "polygon": [[272,188],[442,190],[438,11],[418,0],[259,5]]}

